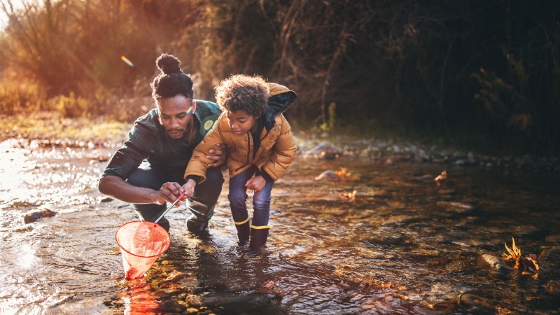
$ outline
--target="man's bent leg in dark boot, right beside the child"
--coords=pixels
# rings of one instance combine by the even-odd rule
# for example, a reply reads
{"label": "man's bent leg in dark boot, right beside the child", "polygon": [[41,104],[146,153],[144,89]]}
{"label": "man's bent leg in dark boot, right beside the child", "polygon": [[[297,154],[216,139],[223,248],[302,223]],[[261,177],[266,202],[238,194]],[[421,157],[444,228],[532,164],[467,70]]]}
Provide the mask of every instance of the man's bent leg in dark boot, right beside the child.
{"label": "man's bent leg in dark boot, right beside the child", "polygon": [[223,175],[220,167],[210,167],[206,172],[206,181],[195,187],[193,197],[189,199],[188,209],[192,213],[187,218],[187,230],[195,234],[204,234],[208,221],[214,215],[214,207],[222,191]]}

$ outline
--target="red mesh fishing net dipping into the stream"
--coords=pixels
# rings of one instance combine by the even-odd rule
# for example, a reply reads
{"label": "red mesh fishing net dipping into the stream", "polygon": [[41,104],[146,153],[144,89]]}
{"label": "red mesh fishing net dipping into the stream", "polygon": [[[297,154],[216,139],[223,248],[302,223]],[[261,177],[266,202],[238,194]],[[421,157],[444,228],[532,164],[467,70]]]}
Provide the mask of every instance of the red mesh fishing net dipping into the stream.
{"label": "red mesh fishing net dipping into the stream", "polygon": [[140,279],[169,248],[169,234],[157,223],[132,221],[118,228],[115,239],[123,253],[127,280]]}

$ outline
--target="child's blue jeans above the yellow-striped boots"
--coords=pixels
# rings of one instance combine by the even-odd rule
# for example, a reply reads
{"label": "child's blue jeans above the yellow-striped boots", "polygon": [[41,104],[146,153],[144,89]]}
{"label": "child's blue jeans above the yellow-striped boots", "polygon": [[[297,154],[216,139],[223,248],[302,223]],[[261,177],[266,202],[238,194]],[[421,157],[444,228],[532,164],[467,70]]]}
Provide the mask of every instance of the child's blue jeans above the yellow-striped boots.
{"label": "child's blue jeans above the yellow-striped boots", "polygon": [[[248,219],[247,211],[247,188],[245,183],[253,177],[257,167],[250,167],[245,171],[230,178],[230,207],[232,209],[232,217],[235,222],[243,222]],[[267,181],[262,190],[255,192],[253,195],[253,223],[255,226],[268,225],[268,216],[270,213],[270,192],[274,186],[274,181]]]}

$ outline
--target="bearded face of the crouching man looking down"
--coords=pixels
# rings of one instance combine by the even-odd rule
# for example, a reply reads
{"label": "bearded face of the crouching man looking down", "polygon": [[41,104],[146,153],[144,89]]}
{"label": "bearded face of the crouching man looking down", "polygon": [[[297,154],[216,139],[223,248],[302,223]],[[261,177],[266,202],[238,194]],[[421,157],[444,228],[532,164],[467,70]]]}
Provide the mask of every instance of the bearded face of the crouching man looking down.
{"label": "bearded face of the crouching man looking down", "polygon": [[172,139],[181,139],[187,132],[195,113],[196,104],[181,94],[158,100],[160,123]]}

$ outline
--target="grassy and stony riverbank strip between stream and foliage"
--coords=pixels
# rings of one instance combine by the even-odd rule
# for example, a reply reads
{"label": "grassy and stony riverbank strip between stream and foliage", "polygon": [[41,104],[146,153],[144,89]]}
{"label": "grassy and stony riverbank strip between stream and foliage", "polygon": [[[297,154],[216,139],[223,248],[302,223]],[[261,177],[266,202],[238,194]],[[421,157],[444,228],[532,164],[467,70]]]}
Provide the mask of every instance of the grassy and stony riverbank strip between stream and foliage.
{"label": "grassy and stony riverbank strip between stream and foliage", "polygon": [[[125,141],[132,123],[103,117],[63,118],[55,112],[0,116],[0,141],[17,139],[20,146],[72,148],[116,148]],[[418,141],[360,138],[327,132],[293,130],[299,153],[304,158],[363,158],[383,165],[400,162],[435,163],[442,166],[483,167],[504,172],[560,173],[560,158],[537,155],[484,155],[461,148],[444,148]]]}

